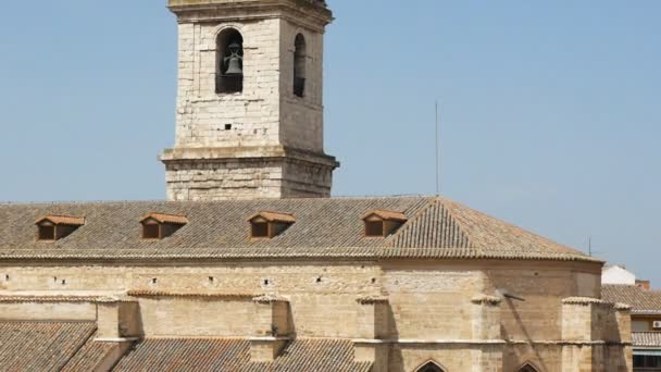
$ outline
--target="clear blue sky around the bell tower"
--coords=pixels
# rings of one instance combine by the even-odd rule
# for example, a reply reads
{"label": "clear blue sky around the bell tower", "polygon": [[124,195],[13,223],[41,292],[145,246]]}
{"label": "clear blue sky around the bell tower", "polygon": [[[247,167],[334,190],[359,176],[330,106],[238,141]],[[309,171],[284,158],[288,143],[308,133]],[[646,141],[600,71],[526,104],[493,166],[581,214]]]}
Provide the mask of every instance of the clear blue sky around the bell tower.
{"label": "clear blue sky around the bell tower", "polygon": [[[336,196],[441,194],[661,287],[661,1],[329,0]],[[10,1],[0,200],[164,198],[165,0]]]}

